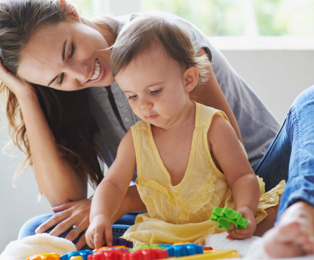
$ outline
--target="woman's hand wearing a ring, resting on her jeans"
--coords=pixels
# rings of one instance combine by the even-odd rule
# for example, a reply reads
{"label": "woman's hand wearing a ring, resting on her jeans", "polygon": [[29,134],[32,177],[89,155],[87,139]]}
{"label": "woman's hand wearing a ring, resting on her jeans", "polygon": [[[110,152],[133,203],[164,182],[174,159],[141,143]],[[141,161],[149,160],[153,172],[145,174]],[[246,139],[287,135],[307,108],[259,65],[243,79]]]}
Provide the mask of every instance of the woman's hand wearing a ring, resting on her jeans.
{"label": "woman's hand wearing a ring, resting on her jeans", "polygon": [[[82,199],[78,202],[66,202],[58,207],[52,208],[56,213],[46,222],[41,224],[35,231],[36,234],[43,233],[47,229],[54,227],[49,234],[52,236],[59,236],[71,229],[74,225],[81,232],[85,232],[89,226],[89,212],[91,211],[91,199]],[[74,241],[78,237],[78,232],[72,229],[69,234],[66,235],[66,239]],[[76,249],[81,249],[86,244],[85,234],[76,243]]]}

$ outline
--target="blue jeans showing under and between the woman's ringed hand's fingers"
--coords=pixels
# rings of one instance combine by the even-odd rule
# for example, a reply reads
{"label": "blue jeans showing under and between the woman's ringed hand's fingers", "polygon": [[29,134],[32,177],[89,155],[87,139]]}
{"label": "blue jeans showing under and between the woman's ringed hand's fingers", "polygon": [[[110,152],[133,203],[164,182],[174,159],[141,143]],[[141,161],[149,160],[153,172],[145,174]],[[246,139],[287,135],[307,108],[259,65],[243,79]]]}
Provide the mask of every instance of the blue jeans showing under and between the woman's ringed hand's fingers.
{"label": "blue jeans showing under and between the woman's ringed hand's fingers", "polygon": [[[136,219],[136,216],[141,213],[141,212],[136,212],[136,213],[130,213],[126,214],[124,217],[119,219],[115,224],[112,225],[112,232],[113,232],[113,237],[120,237],[123,236],[124,232],[126,232],[126,229],[131,227],[131,225],[134,224],[134,221]],[[54,214],[45,214],[37,217],[33,217],[32,219],[29,219],[22,227],[19,232],[19,239],[23,239],[26,236],[31,236],[35,234],[35,229],[39,227],[40,224],[43,224],[46,222],[48,219],[51,218]],[[51,227],[51,229],[48,229],[45,233],[51,232],[51,230],[54,229],[54,227]],[[59,237],[66,237],[67,234],[72,230],[69,229],[63,234],[61,234]],[[76,244],[78,242],[78,239],[83,235],[79,235],[73,243]],[[87,244],[83,246],[81,250],[89,250],[91,249]]]}

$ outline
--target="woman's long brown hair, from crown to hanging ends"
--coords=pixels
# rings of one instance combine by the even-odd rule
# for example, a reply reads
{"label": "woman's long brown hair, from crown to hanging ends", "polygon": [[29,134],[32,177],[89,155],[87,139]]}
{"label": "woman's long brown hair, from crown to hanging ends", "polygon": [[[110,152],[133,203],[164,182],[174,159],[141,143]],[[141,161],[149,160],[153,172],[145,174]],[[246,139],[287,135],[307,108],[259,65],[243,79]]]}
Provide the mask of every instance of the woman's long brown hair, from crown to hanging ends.
{"label": "woman's long brown hair, from crown to hanging ends", "polygon": [[[34,31],[39,26],[57,24],[65,18],[59,0],[1,0],[1,63],[19,78],[17,71],[21,55]],[[101,163],[103,155],[93,140],[93,135],[98,132],[98,126],[89,112],[88,89],[66,92],[41,85],[31,85],[54,134],[60,157],[66,160],[83,180],[88,180],[93,187],[96,187],[103,179]],[[16,95],[1,81],[0,93],[6,98],[6,115],[9,119],[11,140],[26,155],[24,164],[14,175],[16,180],[27,167],[33,164],[31,150]]]}

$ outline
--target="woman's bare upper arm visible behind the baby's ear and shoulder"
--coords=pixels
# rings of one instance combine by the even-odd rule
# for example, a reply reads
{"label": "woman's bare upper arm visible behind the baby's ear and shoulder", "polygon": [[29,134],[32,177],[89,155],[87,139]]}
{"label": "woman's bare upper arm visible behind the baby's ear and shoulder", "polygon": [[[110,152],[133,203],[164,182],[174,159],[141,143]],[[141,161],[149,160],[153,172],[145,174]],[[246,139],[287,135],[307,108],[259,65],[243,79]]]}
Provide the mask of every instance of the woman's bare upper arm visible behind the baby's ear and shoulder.
{"label": "woman's bare upper arm visible behind the baby's ear and shoulder", "polygon": [[[201,48],[198,51],[198,56],[207,55],[206,51]],[[243,143],[240,128],[238,126],[236,117],[233,115],[230,105],[223,95],[223,91],[216,80],[215,74],[213,73],[213,68],[208,66],[209,78],[206,84],[203,84],[201,90],[197,90],[195,93],[190,94],[191,100],[196,101],[197,103],[201,103],[203,105],[207,105],[208,107],[216,108],[228,116],[228,119],[236,131],[238,139]]]}

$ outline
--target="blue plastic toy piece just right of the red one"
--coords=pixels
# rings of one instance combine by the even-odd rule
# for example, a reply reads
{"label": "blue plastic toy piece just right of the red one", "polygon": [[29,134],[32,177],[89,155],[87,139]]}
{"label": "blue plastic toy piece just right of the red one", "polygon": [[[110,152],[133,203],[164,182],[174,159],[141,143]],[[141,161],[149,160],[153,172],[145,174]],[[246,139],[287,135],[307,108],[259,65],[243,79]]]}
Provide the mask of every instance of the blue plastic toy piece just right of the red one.
{"label": "blue plastic toy piece just right of the red one", "polygon": [[203,246],[198,246],[197,244],[158,244],[158,246],[163,247],[164,250],[168,251],[169,257],[181,257],[181,256],[193,256],[194,254],[203,254]]}

